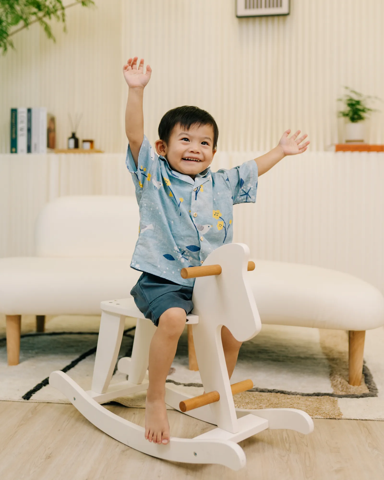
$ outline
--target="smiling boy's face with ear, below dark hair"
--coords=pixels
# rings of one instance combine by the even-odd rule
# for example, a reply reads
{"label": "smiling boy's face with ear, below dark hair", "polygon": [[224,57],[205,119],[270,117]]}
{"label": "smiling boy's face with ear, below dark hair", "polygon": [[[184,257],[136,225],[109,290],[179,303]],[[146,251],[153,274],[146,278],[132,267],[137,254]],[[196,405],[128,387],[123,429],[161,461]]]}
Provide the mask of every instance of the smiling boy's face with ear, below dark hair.
{"label": "smiling boy's face with ear, below dark hair", "polygon": [[157,140],[156,150],[167,158],[172,170],[189,175],[192,179],[209,167],[216,150],[213,150],[212,125],[191,125],[189,130],[176,125],[168,144]]}

